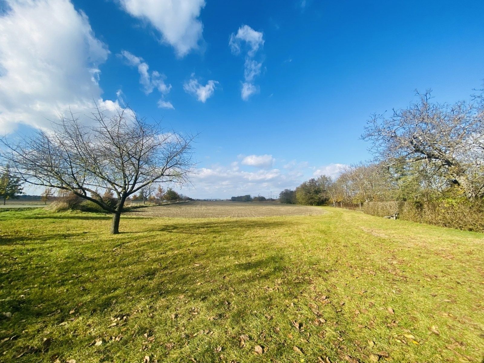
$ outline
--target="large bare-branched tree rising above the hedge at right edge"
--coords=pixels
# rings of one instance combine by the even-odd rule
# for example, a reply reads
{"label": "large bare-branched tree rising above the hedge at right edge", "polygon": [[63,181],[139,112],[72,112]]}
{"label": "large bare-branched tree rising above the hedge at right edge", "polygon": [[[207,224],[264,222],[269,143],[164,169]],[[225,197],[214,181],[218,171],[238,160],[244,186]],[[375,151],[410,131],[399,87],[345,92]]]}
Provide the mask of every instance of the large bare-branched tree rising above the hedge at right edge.
{"label": "large bare-branched tree rising above the hedge at right edge", "polygon": [[484,196],[484,103],[431,103],[430,91],[391,117],[374,115],[362,135],[387,166],[424,161],[468,198]]}

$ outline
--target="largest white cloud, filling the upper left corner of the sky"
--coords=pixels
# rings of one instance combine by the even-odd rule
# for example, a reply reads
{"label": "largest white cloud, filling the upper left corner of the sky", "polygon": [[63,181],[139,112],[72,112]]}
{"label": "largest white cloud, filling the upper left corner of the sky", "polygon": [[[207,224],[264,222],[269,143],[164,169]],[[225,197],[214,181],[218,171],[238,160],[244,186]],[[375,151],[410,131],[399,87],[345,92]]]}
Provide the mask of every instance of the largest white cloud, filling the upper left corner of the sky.
{"label": "largest white cloud, filling the upper left corner of the sky", "polygon": [[0,129],[48,127],[71,109],[119,108],[104,100],[99,66],[109,55],[69,0],[7,0],[0,15]]}

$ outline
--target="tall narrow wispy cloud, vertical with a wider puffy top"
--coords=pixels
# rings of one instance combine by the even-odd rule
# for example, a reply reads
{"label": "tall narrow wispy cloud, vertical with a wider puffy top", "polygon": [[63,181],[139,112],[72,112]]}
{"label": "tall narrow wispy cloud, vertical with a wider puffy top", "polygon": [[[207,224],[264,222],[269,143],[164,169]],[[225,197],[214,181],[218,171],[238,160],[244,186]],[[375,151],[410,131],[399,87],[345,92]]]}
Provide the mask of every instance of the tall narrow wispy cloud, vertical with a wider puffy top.
{"label": "tall narrow wispy cloud, vertical with a wider puffy top", "polygon": [[230,35],[228,45],[234,55],[241,54],[242,49],[246,51],[241,97],[242,100],[247,101],[251,95],[259,91],[258,86],[254,85],[254,79],[260,75],[262,61],[256,61],[254,57],[257,51],[264,45],[264,34],[248,25],[242,25],[237,30],[237,33]]}

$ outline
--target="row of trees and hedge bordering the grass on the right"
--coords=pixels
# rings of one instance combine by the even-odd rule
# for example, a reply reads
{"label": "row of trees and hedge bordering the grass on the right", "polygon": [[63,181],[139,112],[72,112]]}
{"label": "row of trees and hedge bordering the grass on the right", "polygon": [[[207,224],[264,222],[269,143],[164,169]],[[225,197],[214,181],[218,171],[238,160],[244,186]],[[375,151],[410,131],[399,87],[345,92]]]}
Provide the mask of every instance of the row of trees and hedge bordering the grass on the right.
{"label": "row of trees and hedge bordering the grass on the right", "polygon": [[[483,90],[480,90],[481,92]],[[389,117],[374,115],[362,139],[374,159],[285,189],[281,203],[361,208],[415,222],[484,231],[484,102],[431,102],[429,92]]]}

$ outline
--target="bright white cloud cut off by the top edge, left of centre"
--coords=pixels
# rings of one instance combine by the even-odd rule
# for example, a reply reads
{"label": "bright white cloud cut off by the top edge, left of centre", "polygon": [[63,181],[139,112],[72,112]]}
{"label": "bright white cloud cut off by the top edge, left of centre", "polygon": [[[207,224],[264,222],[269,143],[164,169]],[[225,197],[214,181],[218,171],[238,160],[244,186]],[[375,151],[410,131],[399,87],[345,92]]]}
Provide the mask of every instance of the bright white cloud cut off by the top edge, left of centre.
{"label": "bright white cloud cut off by the top edge, left of centre", "polygon": [[119,0],[131,16],[149,22],[161,33],[161,41],[183,57],[198,48],[203,24],[198,20],[205,0]]}

